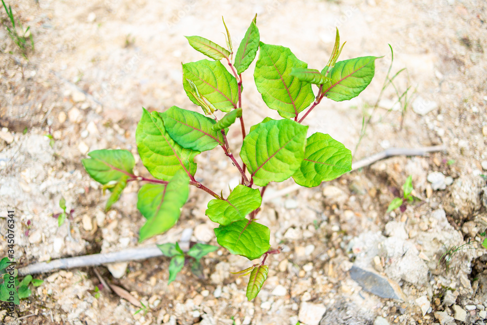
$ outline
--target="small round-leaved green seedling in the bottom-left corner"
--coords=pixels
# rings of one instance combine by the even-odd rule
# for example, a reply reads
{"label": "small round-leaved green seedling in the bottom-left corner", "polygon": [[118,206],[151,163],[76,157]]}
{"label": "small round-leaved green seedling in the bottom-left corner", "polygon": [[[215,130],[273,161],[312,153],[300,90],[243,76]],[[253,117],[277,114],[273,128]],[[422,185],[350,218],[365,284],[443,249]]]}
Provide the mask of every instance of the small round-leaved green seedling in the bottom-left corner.
{"label": "small round-leaved green seedling in the bottom-left corner", "polygon": [[[9,298],[13,296],[15,305],[19,305],[19,299],[25,299],[32,295],[29,285],[38,287],[44,283],[43,280],[33,279],[32,275],[26,275],[22,281],[19,282],[17,269],[10,274],[9,259],[3,257],[0,260],[0,300],[10,301]],[[13,295],[11,294],[13,292]]]}

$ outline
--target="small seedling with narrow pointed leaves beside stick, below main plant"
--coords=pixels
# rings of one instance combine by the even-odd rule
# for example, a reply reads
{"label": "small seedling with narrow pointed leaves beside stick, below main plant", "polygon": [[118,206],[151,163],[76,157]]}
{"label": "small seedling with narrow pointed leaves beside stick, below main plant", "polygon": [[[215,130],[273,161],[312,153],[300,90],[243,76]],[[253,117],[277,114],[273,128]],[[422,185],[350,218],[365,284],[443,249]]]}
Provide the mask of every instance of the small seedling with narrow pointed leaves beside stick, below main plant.
{"label": "small seedling with narrow pointed leaves beside stick, below main plant", "polygon": [[199,278],[204,278],[203,266],[200,263],[200,259],[207,253],[214,252],[218,249],[217,246],[206,245],[196,243],[185,254],[179,247],[178,243],[167,243],[163,245],[157,245],[164,256],[172,257],[169,263],[169,283],[176,279],[176,275],[179,271],[183,270],[183,267],[188,261],[191,261],[191,272]]}

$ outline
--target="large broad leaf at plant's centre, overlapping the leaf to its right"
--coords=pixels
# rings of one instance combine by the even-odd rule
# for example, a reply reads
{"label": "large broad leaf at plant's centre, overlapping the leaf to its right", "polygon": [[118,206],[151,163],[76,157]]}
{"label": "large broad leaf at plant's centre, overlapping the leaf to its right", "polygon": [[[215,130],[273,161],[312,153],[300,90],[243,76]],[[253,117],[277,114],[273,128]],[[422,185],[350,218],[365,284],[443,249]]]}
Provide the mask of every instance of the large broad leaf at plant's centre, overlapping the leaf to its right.
{"label": "large broad leaf at plant's centre, overlapping the leaf to its right", "polygon": [[257,125],[244,139],[240,157],[254,183],[284,181],[301,165],[308,126],[291,120],[269,120]]}

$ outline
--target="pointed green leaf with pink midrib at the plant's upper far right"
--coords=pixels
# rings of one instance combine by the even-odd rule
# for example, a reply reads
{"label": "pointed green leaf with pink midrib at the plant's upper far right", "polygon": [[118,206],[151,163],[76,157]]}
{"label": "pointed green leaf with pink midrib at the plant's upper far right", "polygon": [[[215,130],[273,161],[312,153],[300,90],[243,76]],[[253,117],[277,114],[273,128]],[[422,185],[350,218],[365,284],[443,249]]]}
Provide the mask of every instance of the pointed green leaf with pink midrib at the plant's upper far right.
{"label": "pointed green leaf with pink midrib at the plant's upper far right", "polygon": [[[364,90],[374,77],[376,56],[363,56],[338,61],[328,76],[331,81],[323,86],[326,97],[336,102],[352,99]],[[321,73],[326,73],[325,67]]]}

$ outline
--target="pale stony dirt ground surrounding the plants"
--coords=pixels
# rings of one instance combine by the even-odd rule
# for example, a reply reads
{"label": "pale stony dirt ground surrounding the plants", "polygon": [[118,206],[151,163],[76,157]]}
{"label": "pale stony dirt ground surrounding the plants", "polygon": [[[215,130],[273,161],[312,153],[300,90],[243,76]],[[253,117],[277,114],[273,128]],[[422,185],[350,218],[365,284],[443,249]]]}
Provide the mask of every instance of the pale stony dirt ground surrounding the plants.
{"label": "pale stony dirt ground surrounding the plants", "polygon": [[[5,324],[318,325],[323,314],[321,325],[486,323],[486,250],[469,244],[464,248],[476,249],[448,255],[448,269],[440,262],[452,248],[482,241],[487,227],[484,0],[6,3],[30,26],[35,42],[35,51],[25,59],[0,26],[0,222],[5,236],[7,207],[15,209],[19,266],[139,246],[139,185],[131,183],[104,213],[107,197],[81,159],[103,148],[136,154],[142,107],[197,110],[183,90],[181,62],[205,57],[184,36],[225,44],[222,16],[235,48],[257,13],[261,40],[291,48],[310,68],[326,64],[335,26],[347,41],[340,59],[383,56],[376,61],[374,80],[358,98],[324,99],[305,120],[309,134],[329,133],[354,152],[363,116],[372,116],[354,161],[389,147],[444,144],[446,150],[386,159],[268,200],[260,220],[271,229],[272,247],[283,251],[267,259],[267,281],[251,302],[245,298],[246,279],[230,272],[252,262],[220,248],[204,259],[206,279],[184,269],[170,285],[168,258],[110,271],[98,267],[107,281],[149,307],[136,314],[138,307],[107,289],[95,297],[99,280],[93,268],[39,274],[44,284],[16,309],[18,317],[26,317],[4,318],[2,305]],[[5,11],[0,12],[5,19]],[[399,93],[412,87],[405,114],[394,106],[397,95],[391,86],[373,108],[391,63],[388,44],[394,50],[392,72],[406,68],[395,79]],[[253,84],[254,67],[244,72],[247,129],[266,114],[277,117],[264,108]],[[242,141],[239,132],[238,126],[230,130],[234,152]],[[228,193],[227,184],[239,174],[220,151],[197,157],[196,176],[215,192]],[[136,170],[147,173],[140,161]],[[391,189],[400,189],[410,175],[423,204],[386,213],[394,197]],[[266,194],[292,184],[273,183]],[[74,210],[70,228],[58,227],[52,217],[61,212],[61,197]],[[205,216],[209,199],[192,188],[176,226],[142,245],[180,240],[185,229],[192,230],[191,240],[217,245],[215,224]],[[353,265],[394,281],[404,299],[365,291],[350,276]]]}

